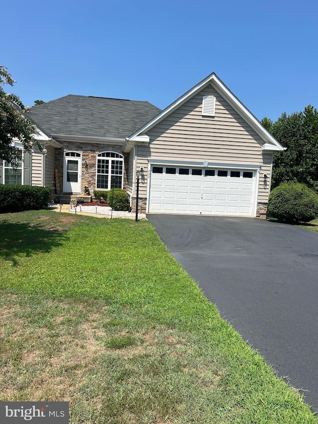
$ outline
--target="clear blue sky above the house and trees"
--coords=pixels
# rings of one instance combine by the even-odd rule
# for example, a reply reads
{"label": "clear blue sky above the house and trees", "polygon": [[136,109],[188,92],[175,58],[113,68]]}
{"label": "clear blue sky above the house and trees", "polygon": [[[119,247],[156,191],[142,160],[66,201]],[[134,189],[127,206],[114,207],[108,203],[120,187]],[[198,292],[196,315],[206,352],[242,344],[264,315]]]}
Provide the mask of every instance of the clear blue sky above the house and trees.
{"label": "clear blue sky above the house and trees", "polygon": [[[67,94],[166,107],[215,72],[258,118],[318,108],[318,1],[2,2],[0,64],[26,105]],[[5,35],[4,35],[5,34]]]}

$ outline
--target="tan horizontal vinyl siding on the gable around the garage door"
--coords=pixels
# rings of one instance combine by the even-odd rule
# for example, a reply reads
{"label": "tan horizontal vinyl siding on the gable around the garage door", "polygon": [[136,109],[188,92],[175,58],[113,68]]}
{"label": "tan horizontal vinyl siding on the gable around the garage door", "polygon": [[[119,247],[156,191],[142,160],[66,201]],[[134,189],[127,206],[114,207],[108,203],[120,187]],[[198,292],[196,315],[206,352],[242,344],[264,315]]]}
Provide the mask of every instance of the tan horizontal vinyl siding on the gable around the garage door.
{"label": "tan horizontal vinyl siding on the gable around the garage door", "polygon": [[[202,116],[203,95],[216,97],[214,117]],[[137,166],[148,167],[146,158],[149,157],[259,165],[258,201],[267,201],[272,155],[262,152],[263,140],[211,85],[159,122],[147,135],[150,144],[138,146]],[[268,175],[266,187],[264,173]]]}

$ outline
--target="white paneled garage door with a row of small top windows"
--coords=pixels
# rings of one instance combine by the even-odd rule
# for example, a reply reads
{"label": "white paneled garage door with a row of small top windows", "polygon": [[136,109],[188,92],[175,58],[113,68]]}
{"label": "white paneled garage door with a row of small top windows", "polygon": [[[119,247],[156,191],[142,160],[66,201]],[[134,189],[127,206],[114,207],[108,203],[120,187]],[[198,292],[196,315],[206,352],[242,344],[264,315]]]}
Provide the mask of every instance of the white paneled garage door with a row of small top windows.
{"label": "white paneled garage door with a row of small top windows", "polygon": [[256,170],[153,165],[150,213],[253,216]]}

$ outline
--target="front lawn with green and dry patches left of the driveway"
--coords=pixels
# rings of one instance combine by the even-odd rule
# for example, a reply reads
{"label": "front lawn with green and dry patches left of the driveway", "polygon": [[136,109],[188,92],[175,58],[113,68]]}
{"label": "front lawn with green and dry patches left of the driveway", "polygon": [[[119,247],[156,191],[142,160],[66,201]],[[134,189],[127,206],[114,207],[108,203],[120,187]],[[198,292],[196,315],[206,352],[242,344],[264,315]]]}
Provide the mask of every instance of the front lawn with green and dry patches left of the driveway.
{"label": "front lawn with green and dry patches left of the driveway", "polygon": [[0,400],[71,423],[318,423],[148,221],[0,215]]}

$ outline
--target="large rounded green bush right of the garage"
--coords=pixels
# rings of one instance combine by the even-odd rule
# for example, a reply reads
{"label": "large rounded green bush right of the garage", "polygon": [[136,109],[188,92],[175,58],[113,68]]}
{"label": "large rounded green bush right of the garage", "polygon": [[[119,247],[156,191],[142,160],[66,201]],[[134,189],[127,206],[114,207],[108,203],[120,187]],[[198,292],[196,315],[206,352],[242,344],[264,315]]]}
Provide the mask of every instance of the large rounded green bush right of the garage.
{"label": "large rounded green bush right of the garage", "polygon": [[308,222],[318,216],[318,194],[299,182],[283,182],[269,195],[268,213],[286,222]]}

